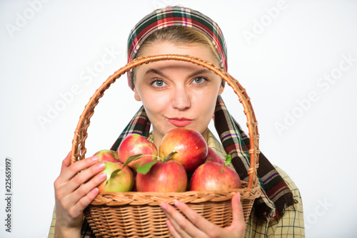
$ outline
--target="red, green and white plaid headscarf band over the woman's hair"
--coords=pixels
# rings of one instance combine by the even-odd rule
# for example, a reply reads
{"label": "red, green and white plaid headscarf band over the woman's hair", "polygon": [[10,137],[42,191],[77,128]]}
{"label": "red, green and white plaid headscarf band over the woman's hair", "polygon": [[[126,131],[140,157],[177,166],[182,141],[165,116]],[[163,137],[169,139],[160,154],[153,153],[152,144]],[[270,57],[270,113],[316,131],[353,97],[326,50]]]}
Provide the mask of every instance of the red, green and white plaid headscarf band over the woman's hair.
{"label": "red, green and white plaid headscarf band over the woman's hair", "polygon": [[[221,59],[220,67],[227,71],[227,46],[219,26],[208,16],[181,6],[169,6],[165,9],[157,9],[145,16],[134,26],[128,38],[128,63],[134,60],[136,53],[146,38],[155,31],[169,26],[191,27],[207,36],[213,43]],[[133,89],[134,82],[130,79],[130,73],[128,72],[128,83],[131,89]]]}

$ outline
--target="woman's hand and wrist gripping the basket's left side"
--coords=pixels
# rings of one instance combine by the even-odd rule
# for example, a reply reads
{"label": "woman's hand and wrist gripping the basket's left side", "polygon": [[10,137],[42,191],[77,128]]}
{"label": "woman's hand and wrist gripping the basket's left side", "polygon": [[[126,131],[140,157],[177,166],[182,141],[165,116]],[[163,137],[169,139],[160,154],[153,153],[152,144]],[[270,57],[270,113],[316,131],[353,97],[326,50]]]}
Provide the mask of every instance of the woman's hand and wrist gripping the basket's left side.
{"label": "woman's hand and wrist gripping the basket's left side", "polygon": [[88,157],[72,165],[70,157],[69,152],[54,182],[56,237],[80,237],[83,211],[98,195],[97,186],[106,179],[99,157]]}

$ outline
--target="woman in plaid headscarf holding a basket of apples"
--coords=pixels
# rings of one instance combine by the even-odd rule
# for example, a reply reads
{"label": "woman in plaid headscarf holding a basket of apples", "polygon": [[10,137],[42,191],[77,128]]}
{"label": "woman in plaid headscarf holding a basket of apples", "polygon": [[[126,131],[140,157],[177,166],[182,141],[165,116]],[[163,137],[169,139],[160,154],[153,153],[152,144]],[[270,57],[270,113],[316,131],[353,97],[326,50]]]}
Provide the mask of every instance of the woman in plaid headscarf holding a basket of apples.
{"label": "woman in plaid headscarf holding a basket of apples", "polygon": [[[160,54],[196,56],[227,70],[226,45],[221,30],[214,21],[192,9],[176,6],[156,10],[131,31],[128,61]],[[149,136],[159,148],[161,138],[172,128],[191,128],[200,132],[218,155],[223,158],[226,153],[232,155],[234,168],[243,180],[246,179],[248,140],[225,108],[220,96],[224,81],[219,76],[192,63],[159,61],[131,71],[129,86],[143,107],[112,150],[116,150],[129,133]],[[224,135],[221,140],[224,138],[225,148],[208,130],[213,115],[218,134]],[[151,124],[152,132],[149,133]],[[234,145],[233,149],[229,145]],[[102,170],[104,165],[97,157],[73,165],[70,165],[69,155],[64,159],[61,174],[54,182],[56,237],[93,236],[88,224],[83,222],[83,211],[98,195],[96,186],[105,180]],[[188,219],[171,205],[162,204],[169,231],[174,237],[304,237],[301,197],[290,178],[273,167],[262,154],[258,176],[263,195],[256,200],[247,224],[240,197],[236,194],[232,199],[233,222],[225,228],[208,222],[182,202],[176,201],[175,206]]]}

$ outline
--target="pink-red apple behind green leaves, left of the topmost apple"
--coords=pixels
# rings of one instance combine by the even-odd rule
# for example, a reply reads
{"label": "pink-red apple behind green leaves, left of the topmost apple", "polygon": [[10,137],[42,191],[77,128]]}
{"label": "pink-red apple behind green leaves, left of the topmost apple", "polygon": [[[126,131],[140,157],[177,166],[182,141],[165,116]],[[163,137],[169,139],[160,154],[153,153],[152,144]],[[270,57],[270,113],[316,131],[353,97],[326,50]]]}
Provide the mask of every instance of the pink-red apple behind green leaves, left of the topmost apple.
{"label": "pink-red apple behind green leaves, left of the topmost apple", "polygon": [[132,169],[137,169],[146,161],[156,160],[155,156],[157,155],[157,149],[155,144],[146,140],[144,136],[139,134],[130,134],[126,136],[126,138],[121,141],[118,148],[119,160],[125,163],[130,156],[139,154],[147,156],[129,162],[128,166]]}

